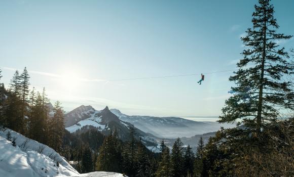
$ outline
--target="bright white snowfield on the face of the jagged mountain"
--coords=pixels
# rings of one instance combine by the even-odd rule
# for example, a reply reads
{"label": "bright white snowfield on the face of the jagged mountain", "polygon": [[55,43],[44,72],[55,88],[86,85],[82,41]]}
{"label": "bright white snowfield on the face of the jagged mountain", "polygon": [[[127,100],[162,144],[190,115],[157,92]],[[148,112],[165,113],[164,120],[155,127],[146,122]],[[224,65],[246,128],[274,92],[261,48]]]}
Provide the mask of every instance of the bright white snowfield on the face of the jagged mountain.
{"label": "bright white snowfield on the face of the jagged mountain", "polygon": [[85,120],[81,120],[78,123],[76,123],[75,125],[69,126],[65,129],[72,133],[72,132],[75,132],[78,129],[82,128],[83,126],[91,125],[91,126],[94,126],[97,128],[100,127],[99,130],[103,130],[105,128],[105,125],[99,124],[100,121],[101,121],[101,116],[100,117],[90,117]]}

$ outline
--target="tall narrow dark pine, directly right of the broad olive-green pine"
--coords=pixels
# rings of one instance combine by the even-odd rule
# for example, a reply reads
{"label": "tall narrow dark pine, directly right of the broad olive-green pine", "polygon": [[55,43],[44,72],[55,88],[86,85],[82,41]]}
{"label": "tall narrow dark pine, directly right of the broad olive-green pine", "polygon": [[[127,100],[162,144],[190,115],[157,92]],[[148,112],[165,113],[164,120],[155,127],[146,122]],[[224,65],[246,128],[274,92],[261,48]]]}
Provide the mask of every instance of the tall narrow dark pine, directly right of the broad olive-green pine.
{"label": "tall narrow dark pine, directly right of the broad olive-green pine", "polygon": [[172,146],[171,161],[173,164],[173,176],[182,176],[183,171],[183,143],[177,138]]}

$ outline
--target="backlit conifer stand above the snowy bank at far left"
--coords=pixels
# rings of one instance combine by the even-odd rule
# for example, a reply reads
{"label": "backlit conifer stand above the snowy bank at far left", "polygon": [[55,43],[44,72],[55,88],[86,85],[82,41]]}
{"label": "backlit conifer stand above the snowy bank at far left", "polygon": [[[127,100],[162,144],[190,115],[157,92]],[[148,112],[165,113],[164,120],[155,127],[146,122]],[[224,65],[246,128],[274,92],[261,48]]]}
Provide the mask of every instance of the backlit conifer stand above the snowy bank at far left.
{"label": "backlit conifer stand above the snowy bank at far left", "polygon": [[36,92],[34,87],[29,90],[29,79],[24,68],[21,74],[15,71],[9,89],[3,83],[0,85],[0,125],[61,152],[64,135],[61,103],[55,102],[50,110],[45,88],[42,92]]}

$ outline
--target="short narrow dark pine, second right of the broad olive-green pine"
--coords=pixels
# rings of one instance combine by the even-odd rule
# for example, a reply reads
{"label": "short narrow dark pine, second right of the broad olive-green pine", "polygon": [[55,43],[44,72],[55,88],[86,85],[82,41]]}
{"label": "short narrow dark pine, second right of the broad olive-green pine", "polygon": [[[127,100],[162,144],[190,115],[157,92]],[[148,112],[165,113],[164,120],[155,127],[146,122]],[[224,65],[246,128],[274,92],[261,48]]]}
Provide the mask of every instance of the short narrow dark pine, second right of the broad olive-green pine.
{"label": "short narrow dark pine, second right of the broad olive-green pine", "polygon": [[184,174],[185,176],[193,176],[193,168],[194,168],[194,153],[190,145],[187,146],[185,157],[184,157]]}

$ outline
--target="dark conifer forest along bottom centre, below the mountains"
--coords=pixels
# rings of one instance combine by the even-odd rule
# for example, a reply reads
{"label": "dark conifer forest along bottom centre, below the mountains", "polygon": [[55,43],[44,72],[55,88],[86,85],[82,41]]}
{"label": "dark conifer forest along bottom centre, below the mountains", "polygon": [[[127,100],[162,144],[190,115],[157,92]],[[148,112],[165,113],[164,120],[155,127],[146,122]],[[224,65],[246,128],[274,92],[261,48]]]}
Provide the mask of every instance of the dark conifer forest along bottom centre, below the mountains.
{"label": "dark conifer forest along bottom centre, below the mountains", "polygon": [[117,131],[105,138],[99,149],[95,170],[114,171],[128,176],[193,176],[201,171],[200,157],[204,151],[202,138],[195,154],[176,139],[171,151],[161,142],[160,153],[148,150],[142,140],[134,139],[135,128],[130,127],[128,142],[122,142]]}

